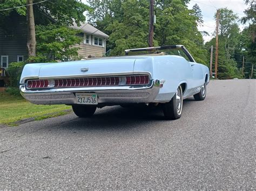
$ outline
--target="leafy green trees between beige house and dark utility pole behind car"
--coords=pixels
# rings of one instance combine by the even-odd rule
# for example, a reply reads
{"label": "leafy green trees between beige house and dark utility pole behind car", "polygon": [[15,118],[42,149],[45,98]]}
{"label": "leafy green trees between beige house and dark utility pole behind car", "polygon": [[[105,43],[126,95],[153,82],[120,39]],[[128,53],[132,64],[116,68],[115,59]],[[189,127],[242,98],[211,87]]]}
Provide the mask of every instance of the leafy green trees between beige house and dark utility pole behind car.
{"label": "leafy green trees between beige house and dark utility pole behind car", "polygon": [[[89,22],[110,34],[107,49],[111,55],[123,55],[124,49],[147,46],[149,1],[91,1],[95,10]],[[132,9],[131,9],[132,8]]]}

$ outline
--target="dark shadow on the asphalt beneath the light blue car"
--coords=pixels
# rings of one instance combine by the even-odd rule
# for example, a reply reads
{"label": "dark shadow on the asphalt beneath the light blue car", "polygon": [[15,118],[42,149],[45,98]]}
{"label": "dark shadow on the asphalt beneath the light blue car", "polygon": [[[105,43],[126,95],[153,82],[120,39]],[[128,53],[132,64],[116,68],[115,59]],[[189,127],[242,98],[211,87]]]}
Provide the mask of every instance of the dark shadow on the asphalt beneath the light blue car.
{"label": "dark shadow on the asphalt beneath the light blue car", "polygon": [[[190,107],[193,98],[184,100],[183,109]],[[179,119],[178,119],[179,120]],[[64,122],[65,126],[75,129],[127,129],[137,128],[140,125],[152,126],[159,122],[169,122],[164,118],[161,106],[158,107],[115,107],[109,110],[96,112],[91,118],[76,118],[75,120]],[[156,124],[154,124],[156,123]]]}

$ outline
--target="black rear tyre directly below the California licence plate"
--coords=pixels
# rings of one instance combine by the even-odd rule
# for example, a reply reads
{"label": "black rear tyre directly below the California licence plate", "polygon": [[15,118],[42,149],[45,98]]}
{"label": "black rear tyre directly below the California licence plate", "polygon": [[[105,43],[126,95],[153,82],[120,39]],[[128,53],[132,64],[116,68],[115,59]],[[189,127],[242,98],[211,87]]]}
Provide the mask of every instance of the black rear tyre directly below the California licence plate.
{"label": "black rear tyre directly below the California licence plate", "polygon": [[91,117],[96,110],[96,105],[72,105],[73,112],[78,117]]}

